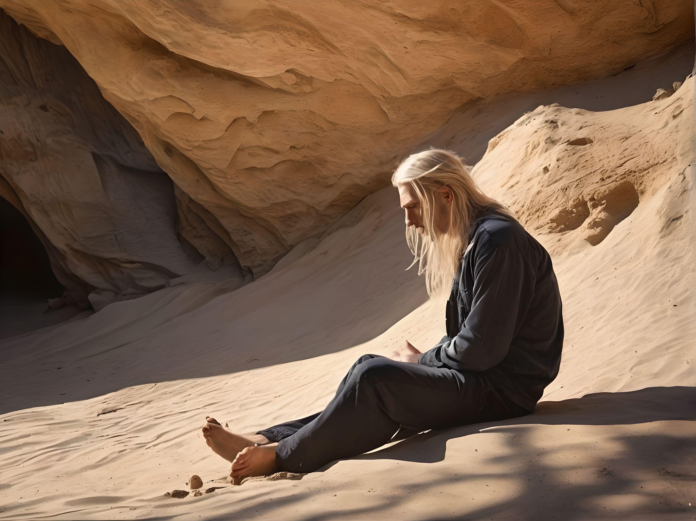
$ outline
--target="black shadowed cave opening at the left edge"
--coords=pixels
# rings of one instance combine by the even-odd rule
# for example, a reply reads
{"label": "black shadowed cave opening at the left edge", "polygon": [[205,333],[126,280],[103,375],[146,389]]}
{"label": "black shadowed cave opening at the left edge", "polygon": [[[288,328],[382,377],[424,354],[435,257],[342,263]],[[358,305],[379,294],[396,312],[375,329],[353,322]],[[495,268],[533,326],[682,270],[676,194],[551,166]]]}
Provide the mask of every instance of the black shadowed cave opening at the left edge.
{"label": "black shadowed cave opening at the left edge", "polygon": [[52,309],[65,288],[22,212],[0,197],[0,338],[72,318],[77,306]]}

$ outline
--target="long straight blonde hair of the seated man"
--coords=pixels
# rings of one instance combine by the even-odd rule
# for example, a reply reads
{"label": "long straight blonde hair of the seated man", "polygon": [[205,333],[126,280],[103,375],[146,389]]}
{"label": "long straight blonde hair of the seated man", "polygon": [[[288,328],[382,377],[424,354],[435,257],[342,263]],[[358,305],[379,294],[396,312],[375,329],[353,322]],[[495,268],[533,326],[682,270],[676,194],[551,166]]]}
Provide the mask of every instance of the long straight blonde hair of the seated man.
{"label": "long straight blonde hair of the seated man", "polygon": [[[481,192],[470,176],[470,169],[457,153],[431,147],[406,157],[392,175],[394,187],[408,182],[418,194],[423,231],[418,231],[416,226],[406,226],[406,242],[414,255],[406,270],[420,260],[418,275],[425,272],[425,287],[430,296],[450,289],[477,217],[493,211],[517,221],[507,205]],[[447,232],[438,233],[434,226],[438,210],[435,192],[445,185],[453,194],[452,203],[448,205],[450,227]]]}

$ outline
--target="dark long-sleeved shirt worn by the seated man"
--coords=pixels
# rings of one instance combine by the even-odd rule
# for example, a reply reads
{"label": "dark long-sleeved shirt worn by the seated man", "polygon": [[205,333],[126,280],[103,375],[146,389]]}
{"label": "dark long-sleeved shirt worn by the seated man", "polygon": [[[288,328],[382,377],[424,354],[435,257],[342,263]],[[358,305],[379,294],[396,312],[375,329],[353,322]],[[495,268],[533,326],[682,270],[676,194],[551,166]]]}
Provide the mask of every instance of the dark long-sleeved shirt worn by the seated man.
{"label": "dark long-sleeved shirt worn by the seated man", "polygon": [[558,374],[563,345],[551,257],[493,210],[475,221],[469,240],[447,302],[447,334],[418,362],[475,375],[531,412]]}

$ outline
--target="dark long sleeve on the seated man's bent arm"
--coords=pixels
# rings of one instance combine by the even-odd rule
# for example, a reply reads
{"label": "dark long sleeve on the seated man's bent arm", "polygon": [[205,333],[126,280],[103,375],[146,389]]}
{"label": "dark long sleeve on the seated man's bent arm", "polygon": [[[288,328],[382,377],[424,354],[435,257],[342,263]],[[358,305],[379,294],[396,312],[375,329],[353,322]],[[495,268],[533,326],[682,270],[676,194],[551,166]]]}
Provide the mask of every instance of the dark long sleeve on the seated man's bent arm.
{"label": "dark long sleeve on the seated man's bent arm", "polygon": [[453,339],[443,338],[419,363],[486,371],[505,358],[529,309],[535,273],[521,251],[493,244],[475,259],[471,311]]}

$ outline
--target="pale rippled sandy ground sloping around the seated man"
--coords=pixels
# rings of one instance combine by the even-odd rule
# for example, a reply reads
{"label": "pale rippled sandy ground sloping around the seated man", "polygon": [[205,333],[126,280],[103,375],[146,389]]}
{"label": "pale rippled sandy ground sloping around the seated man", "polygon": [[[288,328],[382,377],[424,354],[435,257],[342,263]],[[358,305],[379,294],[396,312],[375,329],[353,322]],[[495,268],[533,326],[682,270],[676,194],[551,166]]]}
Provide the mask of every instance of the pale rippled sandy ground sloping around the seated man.
{"label": "pale rippled sandy ground sloping around the seated man", "polygon": [[[583,84],[567,106],[598,93],[619,100],[617,89],[645,89],[648,77],[648,91],[683,81],[693,45],[651,63],[642,81]],[[0,518],[693,519],[694,138],[679,121],[693,121],[695,92],[692,77],[656,102],[626,94],[625,105],[598,112],[518,111],[491,135],[553,112],[596,125],[600,141],[642,125],[644,139],[671,151],[653,167],[641,155],[647,144],[633,145],[644,163],[640,202],[598,244],[581,227],[535,228],[553,256],[566,337],[560,375],[534,414],[422,433],[296,479],[228,483],[228,463],[200,434],[206,414],[237,432],[302,417],[324,407],[360,355],[388,354],[405,339],[425,350],[441,338],[443,302],[404,271],[402,210],[386,188],[243,288],[188,281],[1,341]],[[554,91],[501,102],[482,128],[515,104],[556,101]],[[503,155],[483,156],[487,141],[473,149],[483,156],[473,175],[538,224],[554,210],[552,192],[533,199],[523,185],[553,186],[532,169],[511,186],[495,166],[505,154],[528,157],[523,132],[501,133]],[[562,173],[571,183],[593,175]],[[164,496],[186,490],[191,474],[223,488]]]}

